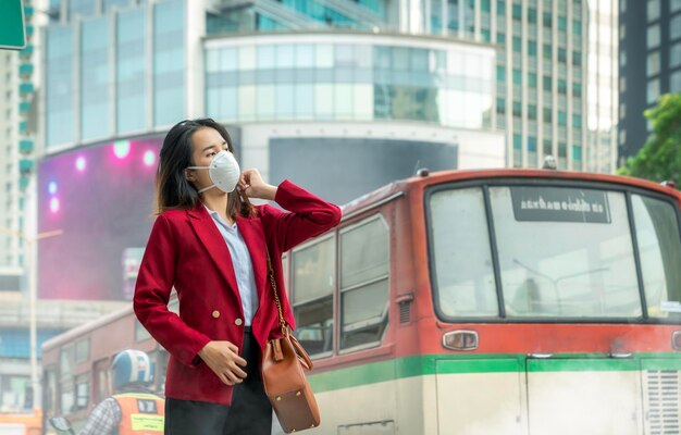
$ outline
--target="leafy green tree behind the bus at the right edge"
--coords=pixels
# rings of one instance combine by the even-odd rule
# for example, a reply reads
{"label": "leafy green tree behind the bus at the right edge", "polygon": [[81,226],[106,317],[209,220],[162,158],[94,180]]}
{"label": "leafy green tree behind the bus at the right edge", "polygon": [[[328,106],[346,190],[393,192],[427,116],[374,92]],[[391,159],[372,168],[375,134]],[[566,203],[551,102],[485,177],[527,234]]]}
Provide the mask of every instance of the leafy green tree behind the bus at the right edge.
{"label": "leafy green tree behind the bus at the right edge", "polygon": [[653,123],[653,134],[619,173],[657,183],[671,179],[681,188],[681,94],[664,95],[644,114]]}

